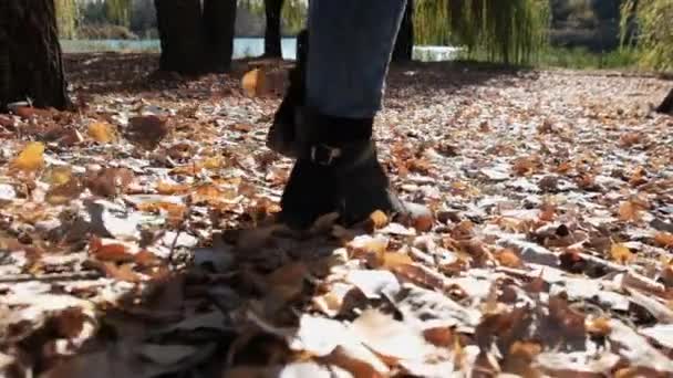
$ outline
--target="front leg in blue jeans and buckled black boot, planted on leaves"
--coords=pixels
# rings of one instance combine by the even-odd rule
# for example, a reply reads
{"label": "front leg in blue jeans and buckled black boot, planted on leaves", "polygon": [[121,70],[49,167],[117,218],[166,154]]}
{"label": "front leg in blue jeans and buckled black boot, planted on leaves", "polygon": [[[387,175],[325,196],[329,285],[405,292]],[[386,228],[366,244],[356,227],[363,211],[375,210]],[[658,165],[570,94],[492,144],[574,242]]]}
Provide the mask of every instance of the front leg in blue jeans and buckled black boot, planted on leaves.
{"label": "front leg in blue jeans and buckled black boot, planted on leaves", "polygon": [[[309,227],[336,211],[354,223],[375,210],[408,214],[389,189],[372,140],[406,0],[312,0],[306,107],[296,117],[298,160],[282,219]],[[413,209],[417,212],[417,208]]]}

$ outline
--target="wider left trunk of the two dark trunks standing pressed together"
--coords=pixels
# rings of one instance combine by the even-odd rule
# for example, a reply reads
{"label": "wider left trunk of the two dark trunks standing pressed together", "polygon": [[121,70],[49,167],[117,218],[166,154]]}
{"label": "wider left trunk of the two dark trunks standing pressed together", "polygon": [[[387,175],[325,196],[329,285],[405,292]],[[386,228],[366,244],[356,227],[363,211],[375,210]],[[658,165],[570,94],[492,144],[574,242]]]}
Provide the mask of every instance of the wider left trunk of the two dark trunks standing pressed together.
{"label": "wider left trunk of the two dark trunks standing pressed together", "polygon": [[161,71],[199,74],[204,71],[200,0],[154,0],[162,41]]}

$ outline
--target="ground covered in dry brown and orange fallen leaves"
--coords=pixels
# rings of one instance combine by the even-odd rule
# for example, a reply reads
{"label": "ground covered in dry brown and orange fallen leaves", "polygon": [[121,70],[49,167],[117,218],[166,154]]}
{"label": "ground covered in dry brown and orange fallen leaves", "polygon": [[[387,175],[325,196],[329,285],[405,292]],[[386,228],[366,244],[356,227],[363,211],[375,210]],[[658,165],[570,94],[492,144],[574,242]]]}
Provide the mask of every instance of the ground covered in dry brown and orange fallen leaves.
{"label": "ground covered in dry brown and orange fallen leaves", "polygon": [[435,220],[298,233],[250,62],[65,61],[77,112],[0,115],[0,376],[673,375],[673,82],[395,66],[381,159]]}

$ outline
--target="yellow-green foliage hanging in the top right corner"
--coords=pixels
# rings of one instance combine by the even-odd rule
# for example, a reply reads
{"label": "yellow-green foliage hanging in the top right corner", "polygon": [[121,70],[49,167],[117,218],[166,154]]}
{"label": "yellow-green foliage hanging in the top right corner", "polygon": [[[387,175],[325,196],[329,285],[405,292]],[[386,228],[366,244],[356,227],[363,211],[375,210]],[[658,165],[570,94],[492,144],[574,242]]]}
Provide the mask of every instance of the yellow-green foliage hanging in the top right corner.
{"label": "yellow-green foliage hanging in the top right corner", "polygon": [[[673,1],[628,0],[622,6],[622,45],[634,49],[640,64],[655,71],[673,71]],[[630,40],[632,22],[638,24]],[[633,48],[631,48],[633,46]]]}

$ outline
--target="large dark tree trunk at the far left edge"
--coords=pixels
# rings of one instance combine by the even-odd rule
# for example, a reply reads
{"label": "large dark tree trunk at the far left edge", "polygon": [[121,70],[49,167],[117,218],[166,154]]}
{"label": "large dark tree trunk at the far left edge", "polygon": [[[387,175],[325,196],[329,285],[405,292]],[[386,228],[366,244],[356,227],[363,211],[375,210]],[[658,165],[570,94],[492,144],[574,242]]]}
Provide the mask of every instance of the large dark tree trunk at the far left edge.
{"label": "large dark tree trunk at the far left edge", "polygon": [[55,15],[54,0],[0,0],[0,109],[70,104]]}

